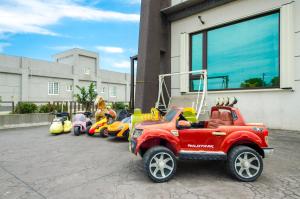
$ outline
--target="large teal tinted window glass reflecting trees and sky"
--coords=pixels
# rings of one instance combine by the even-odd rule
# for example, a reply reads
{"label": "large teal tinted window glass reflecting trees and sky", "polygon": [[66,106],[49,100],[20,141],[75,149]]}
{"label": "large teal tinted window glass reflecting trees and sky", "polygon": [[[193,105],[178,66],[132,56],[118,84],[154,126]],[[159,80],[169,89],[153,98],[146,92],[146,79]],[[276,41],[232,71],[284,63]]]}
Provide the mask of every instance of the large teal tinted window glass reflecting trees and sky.
{"label": "large teal tinted window glass reflecting trees and sky", "polygon": [[[279,87],[279,13],[192,35],[193,65],[198,60],[193,37],[202,34],[207,35],[202,46],[209,90]],[[197,82],[191,81],[194,90]]]}

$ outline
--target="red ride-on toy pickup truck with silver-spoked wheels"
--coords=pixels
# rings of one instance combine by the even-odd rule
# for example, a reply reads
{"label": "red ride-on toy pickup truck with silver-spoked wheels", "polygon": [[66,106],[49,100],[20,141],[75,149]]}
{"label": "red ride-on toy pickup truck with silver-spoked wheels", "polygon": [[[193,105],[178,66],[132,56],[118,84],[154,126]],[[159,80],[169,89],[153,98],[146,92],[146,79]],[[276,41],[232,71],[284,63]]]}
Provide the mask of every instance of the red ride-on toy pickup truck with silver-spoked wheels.
{"label": "red ride-on toy pickup truck with silver-spoked wheels", "polygon": [[143,157],[144,168],[155,182],[170,180],[177,158],[226,160],[229,173],[240,181],[254,181],[262,173],[262,158],[273,152],[268,147],[268,130],[263,124],[245,123],[239,109],[214,106],[208,121],[188,122],[182,108],[171,108],[161,121],[135,127],[130,150]]}

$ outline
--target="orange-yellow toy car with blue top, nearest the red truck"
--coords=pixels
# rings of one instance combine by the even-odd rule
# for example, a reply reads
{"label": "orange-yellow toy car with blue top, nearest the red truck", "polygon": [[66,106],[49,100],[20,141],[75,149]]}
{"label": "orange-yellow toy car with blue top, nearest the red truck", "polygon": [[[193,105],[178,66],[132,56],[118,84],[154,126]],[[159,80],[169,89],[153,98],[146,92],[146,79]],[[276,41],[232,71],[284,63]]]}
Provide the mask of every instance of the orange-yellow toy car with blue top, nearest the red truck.
{"label": "orange-yellow toy car with blue top, nearest the red truck", "polygon": [[126,117],[122,121],[115,121],[107,126],[107,134],[110,137],[128,138],[129,124],[131,117]]}

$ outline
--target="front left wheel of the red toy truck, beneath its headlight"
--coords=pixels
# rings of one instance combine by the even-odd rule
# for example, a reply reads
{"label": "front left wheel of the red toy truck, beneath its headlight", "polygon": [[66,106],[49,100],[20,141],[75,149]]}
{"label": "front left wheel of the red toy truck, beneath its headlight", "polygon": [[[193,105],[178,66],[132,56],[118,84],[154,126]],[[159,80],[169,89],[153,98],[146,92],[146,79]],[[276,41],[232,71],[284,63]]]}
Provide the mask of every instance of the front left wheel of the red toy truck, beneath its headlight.
{"label": "front left wheel of the red toy truck, beneath its headlight", "polygon": [[154,182],[169,181],[177,168],[176,157],[166,147],[157,146],[149,149],[143,156],[144,169]]}

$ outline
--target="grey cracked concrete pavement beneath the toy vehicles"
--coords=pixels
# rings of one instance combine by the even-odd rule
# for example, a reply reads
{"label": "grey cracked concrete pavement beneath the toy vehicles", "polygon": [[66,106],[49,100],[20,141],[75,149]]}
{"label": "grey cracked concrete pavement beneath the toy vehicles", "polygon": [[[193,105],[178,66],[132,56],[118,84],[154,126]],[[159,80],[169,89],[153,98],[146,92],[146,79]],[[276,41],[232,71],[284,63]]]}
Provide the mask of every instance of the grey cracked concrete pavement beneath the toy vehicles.
{"label": "grey cracked concrete pavement beneath the toy vehicles", "polygon": [[300,133],[273,130],[269,140],[275,153],[256,182],[231,179],[222,162],[180,161],[156,184],[126,141],[1,130],[0,198],[300,198]]}

